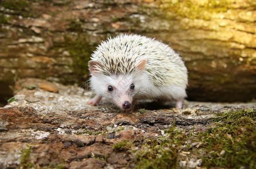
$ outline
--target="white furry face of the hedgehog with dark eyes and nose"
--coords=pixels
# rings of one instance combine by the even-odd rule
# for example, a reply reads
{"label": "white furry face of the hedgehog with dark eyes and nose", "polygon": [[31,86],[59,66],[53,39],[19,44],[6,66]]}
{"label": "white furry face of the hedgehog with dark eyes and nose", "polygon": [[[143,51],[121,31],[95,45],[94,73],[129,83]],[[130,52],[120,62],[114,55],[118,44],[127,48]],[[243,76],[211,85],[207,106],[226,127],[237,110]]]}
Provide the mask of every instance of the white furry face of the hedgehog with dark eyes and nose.
{"label": "white furry face of the hedgehog with dark eyes and nose", "polygon": [[[146,61],[144,62],[144,67],[145,63]],[[90,68],[92,73],[91,87],[121,110],[129,111],[133,108],[134,99],[139,92],[140,81],[138,79],[140,79],[139,74],[144,70],[144,67],[140,68],[140,71],[136,73],[111,76],[93,72],[94,70]]]}

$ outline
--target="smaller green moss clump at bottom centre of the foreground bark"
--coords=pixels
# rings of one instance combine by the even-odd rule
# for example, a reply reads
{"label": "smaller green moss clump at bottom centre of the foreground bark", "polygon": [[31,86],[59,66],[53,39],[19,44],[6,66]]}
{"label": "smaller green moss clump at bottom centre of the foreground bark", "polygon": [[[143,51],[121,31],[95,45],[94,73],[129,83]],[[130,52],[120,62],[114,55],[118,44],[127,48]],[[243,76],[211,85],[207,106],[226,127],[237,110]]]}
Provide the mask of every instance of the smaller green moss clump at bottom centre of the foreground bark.
{"label": "smaller green moss clump at bottom centre of the foreground bark", "polygon": [[139,151],[136,152],[136,169],[168,169],[178,165],[178,147],[187,137],[175,123],[167,130],[165,136],[158,139],[146,139]]}

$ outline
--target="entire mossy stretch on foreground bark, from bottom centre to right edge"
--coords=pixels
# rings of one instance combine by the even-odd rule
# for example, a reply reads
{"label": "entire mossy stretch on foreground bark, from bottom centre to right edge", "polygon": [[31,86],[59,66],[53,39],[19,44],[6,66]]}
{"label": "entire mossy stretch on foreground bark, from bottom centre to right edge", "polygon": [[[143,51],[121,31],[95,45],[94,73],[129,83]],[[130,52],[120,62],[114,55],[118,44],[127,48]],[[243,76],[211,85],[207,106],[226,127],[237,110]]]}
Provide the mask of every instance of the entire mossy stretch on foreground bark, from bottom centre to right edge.
{"label": "entire mossy stretch on foreground bark, from bottom centre to right edge", "polygon": [[179,161],[190,159],[202,159],[201,166],[206,168],[256,168],[256,110],[217,116],[219,120],[202,132],[196,127],[185,132],[172,124],[163,136],[145,138],[142,143],[120,141],[112,148],[131,154],[136,169],[180,168]]}

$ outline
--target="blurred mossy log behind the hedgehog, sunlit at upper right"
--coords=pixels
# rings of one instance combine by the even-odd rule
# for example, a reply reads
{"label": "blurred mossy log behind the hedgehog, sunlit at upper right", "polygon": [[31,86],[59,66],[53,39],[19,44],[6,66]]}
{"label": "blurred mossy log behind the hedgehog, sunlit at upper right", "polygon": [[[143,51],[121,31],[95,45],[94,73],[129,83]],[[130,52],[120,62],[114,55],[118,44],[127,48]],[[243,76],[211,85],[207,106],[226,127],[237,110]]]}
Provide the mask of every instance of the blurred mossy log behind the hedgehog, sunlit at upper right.
{"label": "blurred mossy log behind the hedgehog, sunlit at upper right", "polygon": [[21,78],[82,84],[91,52],[120,33],[174,48],[188,100],[256,98],[256,0],[0,0],[0,104]]}

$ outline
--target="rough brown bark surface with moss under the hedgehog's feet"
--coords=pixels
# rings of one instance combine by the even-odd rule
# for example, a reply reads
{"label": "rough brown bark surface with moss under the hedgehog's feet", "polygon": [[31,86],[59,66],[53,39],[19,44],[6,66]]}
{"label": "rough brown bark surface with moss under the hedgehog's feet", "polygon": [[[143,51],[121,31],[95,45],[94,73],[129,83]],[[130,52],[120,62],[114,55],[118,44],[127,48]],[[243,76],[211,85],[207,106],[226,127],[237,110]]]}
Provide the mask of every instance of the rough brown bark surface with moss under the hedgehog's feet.
{"label": "rough brown bark surface with moss under the hedgehog's feet", "polygon": [[0,168],[254,168],[256,103],[141,101],[124,113],[79,86],[16,83],[0,108]]}

